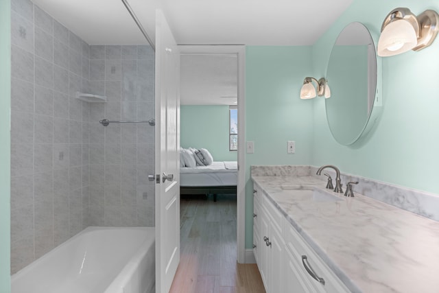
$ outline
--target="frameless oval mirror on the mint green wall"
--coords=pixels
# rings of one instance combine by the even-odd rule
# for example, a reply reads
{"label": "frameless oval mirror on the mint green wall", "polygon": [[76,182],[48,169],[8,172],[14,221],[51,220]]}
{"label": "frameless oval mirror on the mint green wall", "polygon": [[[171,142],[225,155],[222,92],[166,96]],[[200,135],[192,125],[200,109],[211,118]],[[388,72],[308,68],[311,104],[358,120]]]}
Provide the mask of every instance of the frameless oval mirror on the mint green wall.
{"label": "frameless oval mirror on the mint green wall", "polygon": [[378,103],[378,69],[370,32],[362,23],[348,24],[335,41],[327,68],[331,97],[325,99],[325,106],[338,143],[355,143],[376,120],[371,117]]}

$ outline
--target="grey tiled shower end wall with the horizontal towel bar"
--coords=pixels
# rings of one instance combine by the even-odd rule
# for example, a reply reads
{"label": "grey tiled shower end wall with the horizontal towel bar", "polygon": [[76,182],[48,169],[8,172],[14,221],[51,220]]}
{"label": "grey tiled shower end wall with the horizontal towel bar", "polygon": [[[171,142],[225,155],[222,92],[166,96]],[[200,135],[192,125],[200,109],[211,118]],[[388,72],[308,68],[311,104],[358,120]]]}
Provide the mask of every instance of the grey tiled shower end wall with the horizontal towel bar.
{"label": "grey tiled shower end wall with the horizontal towel bar", "polygon": [[154,117],[154,51],[91,46],[90,86],[108,99],[90,106],[91,225],[154,226],[154,127],[99,124]]}

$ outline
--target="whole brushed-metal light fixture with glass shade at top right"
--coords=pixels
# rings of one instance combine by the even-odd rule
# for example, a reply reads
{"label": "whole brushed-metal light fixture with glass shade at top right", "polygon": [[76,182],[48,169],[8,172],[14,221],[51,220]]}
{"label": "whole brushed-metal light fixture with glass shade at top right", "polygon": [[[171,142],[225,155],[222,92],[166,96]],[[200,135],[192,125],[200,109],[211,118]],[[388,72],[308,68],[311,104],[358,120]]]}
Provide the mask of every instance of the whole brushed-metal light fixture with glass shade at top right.
{"label": "whole brushed-metal light fixture with glass shade at top right", "polygon": [[439,14],[425,10],[418,16],[408,8],[395,8],[383,21],[378,56],[394,56],[412,49],[419,51],[433,43],[439,32]]}

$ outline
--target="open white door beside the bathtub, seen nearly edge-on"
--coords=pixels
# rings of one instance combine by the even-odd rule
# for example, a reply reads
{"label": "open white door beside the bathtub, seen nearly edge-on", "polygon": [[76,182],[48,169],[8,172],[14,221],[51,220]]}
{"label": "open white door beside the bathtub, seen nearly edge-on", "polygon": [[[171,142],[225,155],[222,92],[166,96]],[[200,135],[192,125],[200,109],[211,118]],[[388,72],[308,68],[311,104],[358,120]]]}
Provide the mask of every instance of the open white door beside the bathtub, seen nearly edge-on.
{"label": "open white door beside the bathtub, seen nearly edge-on", "polygon": [[180,261],[180,52],[156,10],[156,292],[169,292]]}

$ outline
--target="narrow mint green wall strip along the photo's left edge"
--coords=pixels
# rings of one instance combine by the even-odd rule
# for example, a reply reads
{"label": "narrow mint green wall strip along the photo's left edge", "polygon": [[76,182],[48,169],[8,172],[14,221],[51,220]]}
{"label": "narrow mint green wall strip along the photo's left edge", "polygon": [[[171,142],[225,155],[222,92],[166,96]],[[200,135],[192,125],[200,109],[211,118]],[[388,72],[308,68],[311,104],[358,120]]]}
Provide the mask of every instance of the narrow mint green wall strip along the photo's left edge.
{"label": "narrow mint green wall strip along the photo's left edge", "polygon": [[10,292],[10,0],[0,1],[0,292]]}

